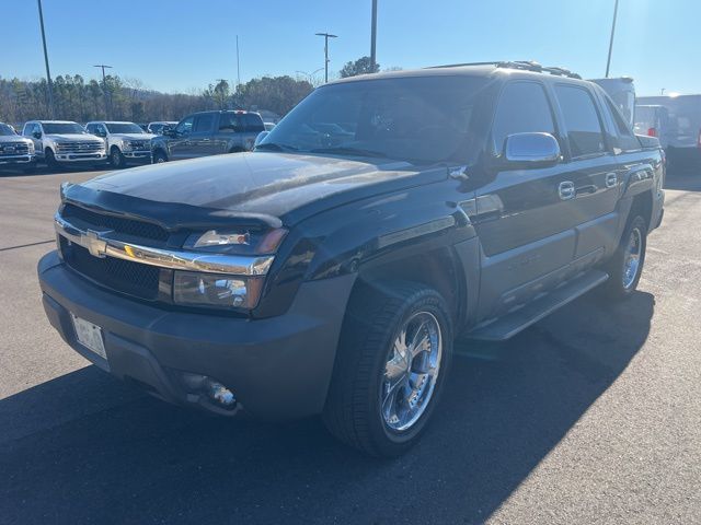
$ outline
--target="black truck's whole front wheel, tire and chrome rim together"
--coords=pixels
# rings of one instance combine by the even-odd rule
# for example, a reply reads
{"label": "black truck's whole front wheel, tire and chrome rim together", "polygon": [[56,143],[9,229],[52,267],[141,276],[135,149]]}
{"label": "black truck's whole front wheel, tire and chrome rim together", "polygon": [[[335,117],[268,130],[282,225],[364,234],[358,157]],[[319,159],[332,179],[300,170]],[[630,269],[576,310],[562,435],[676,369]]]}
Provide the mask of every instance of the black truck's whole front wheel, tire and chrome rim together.
{"label": "black truck's whole front wheel, tire and chrome rim together", "polygon": [[346,313],[326,427],[370,455],[403,454],[430,419],[451,354],[450,315],[438,292],[414,283],[360,292]]}

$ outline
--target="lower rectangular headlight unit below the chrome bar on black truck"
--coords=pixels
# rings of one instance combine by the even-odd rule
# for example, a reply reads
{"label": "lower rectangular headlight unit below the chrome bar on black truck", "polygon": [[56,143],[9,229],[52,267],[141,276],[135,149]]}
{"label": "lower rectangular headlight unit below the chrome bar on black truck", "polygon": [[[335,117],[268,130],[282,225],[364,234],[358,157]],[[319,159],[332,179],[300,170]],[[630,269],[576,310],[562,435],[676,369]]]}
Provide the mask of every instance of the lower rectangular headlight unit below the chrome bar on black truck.
{"label": "lower rectangular headlight unit below the chrome bar on black truck", "polygon": [[189,306],[254,308],[263,289],[262,277],[175,271],[173,301]]}

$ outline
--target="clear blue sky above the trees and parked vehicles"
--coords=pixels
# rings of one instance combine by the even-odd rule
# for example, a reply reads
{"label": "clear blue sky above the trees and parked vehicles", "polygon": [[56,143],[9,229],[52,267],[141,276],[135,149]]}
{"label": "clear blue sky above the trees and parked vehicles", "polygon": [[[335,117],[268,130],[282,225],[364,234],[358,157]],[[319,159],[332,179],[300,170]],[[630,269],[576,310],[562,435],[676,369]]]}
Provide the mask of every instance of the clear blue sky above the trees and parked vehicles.
{"label": "clear blue sky above the trees and parked vehicles", "polygon": [[[369,55],[370,0],[43,0],[51,74],[96,78],[94,63],[168,92],[235,80],[332,71]],[[0,0],[0,75],[44,74],[34,0]],[[384,67],[536,59],[604,77],[613,0],[379,0]],[[12,16],[8,15],[11,13]],[[13,42],[12,47],[8,45]],[[620,0],[611,75],[639,94],[700,93],[701,0]]]}

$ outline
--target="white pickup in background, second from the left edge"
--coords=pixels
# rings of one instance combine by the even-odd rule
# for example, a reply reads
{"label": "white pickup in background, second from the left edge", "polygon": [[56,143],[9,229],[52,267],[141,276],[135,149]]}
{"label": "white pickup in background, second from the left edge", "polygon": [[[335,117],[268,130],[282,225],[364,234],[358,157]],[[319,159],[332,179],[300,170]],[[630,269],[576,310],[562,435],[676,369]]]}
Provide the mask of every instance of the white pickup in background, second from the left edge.
{"label": "white pickup in background, second from the left edge", "polygon": [[37,160],[48,166],[104,164],[105,142],[70,120],[30,120],[22,131],[32,139]]}

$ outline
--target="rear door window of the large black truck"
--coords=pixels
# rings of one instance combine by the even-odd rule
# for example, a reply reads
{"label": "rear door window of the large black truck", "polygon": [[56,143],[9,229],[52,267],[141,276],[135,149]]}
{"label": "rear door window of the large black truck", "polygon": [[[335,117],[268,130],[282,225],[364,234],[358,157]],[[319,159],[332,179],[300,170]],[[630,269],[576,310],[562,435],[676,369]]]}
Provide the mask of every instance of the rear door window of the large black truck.
{"label": "rear door window of the large black truck", "polygon": [[575,85],[559,84],[555,94],[567,128],[572,156],[604,153],[601,122],[589,92]]}

